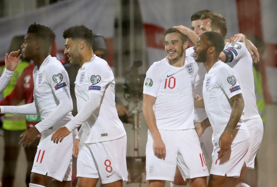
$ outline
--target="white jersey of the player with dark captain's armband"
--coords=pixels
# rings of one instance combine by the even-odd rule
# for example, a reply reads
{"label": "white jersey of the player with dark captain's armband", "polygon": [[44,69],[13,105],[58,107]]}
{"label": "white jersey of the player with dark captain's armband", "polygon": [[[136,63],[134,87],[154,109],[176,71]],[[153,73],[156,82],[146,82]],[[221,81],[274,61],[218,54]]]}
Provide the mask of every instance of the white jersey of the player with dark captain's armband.
{"label": "white jersey of the player with dark captain's armband", "polygon": [[223,52],[226,55],[225,63],[233,68],[239,76],[244,99],[242,119],[247,120],[260,117],[256,105],[252,57],[245,43],[227,43]]}

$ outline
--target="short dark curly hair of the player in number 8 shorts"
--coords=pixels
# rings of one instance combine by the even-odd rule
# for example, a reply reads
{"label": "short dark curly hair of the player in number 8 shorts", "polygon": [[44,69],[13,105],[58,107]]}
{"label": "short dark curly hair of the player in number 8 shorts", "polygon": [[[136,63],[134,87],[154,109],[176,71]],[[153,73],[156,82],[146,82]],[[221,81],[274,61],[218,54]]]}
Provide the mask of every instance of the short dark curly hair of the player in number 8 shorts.
{"label": "short dark curly hair of the player in number 8 shorts", "polygon": [[63,38],[83,39],[89,46],[93,44],[93,33],[92,30],[84,25],[72,26],[63,31]]}

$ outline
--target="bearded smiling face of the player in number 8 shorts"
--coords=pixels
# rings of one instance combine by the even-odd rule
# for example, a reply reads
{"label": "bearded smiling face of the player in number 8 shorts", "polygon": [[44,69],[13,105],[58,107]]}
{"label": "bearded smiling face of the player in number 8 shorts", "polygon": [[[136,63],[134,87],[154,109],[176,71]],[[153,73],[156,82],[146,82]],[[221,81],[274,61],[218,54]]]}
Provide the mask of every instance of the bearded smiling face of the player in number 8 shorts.
{"label": "bearded smiling face of the player in number 8 shorts", "polygon": [[64,53],[69,59],[70,64],[81,63],[81,53],[78,50],[78,42],[72,38],[65,39]]}

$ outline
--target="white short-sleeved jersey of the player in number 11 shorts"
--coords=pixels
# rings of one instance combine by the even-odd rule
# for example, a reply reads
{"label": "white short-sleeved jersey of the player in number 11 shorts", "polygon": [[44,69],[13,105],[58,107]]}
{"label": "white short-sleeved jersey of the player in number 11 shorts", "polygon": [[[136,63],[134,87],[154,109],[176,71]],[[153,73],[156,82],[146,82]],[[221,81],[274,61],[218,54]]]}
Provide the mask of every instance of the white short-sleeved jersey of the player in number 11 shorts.
{"label": "white short-sleeved jersey of the player in number 11 shorts", "polygon": [[[35,66],[33,70],[34,80],[34,100],[40,111],[40,118],[44,120],[59,105],[59,101],[55,94],[69,90],[69,78],[63,65],[56,57],[50,55],[44,59],[42,65],[38,69]],[[62,119],[55,124],[55,129],[65,126],[73,118],[71,112],[67,113]],[[54,125],[54,124],[53,124]],[[36,125],[38,128],[39,124]],[[51,130],[50,128],[49,130]],[[49,131],[48,130],[48,131]],[[77,134],[77,130],[73,132]]]}

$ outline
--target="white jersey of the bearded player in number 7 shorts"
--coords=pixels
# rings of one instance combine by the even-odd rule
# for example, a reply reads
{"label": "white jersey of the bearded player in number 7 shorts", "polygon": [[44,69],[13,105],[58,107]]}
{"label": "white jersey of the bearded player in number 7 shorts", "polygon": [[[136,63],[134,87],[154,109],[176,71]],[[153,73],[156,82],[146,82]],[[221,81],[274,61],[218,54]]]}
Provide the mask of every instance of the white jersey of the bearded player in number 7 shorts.
{"label": "white jersey of the bearded player in number 7 shorts", "polygon": [[[219,138],[230,119],[232,107],[229,99],[239,93],[242,93],[242,90],[235,70],[222,61],[216,62],[205,75],[203,82],[203,99],[209,121],[214,130],[215,147],[218,146]],[[244,123],[238,123],[232,134],[232,144],[250,138]]]}

